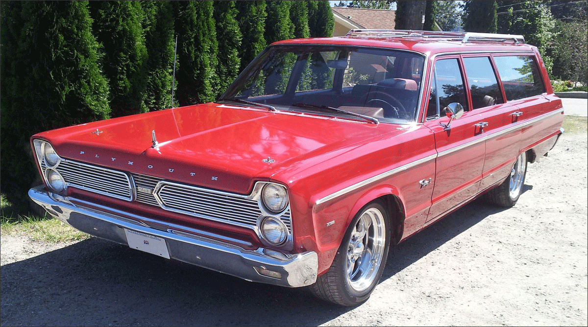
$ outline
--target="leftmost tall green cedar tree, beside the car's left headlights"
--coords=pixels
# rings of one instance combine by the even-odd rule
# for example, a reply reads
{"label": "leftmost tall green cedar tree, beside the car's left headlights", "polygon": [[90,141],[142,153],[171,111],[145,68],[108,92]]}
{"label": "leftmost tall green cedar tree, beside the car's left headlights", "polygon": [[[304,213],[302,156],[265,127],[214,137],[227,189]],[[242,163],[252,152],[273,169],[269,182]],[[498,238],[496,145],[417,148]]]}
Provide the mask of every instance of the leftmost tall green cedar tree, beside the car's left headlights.
{"label": "leftmost tall green cedar tree, beside the car's left headlights", "polygon": [[87,1],[2,1],[1,192],[15,205],[40,183],[29,137],[109,117]]}

